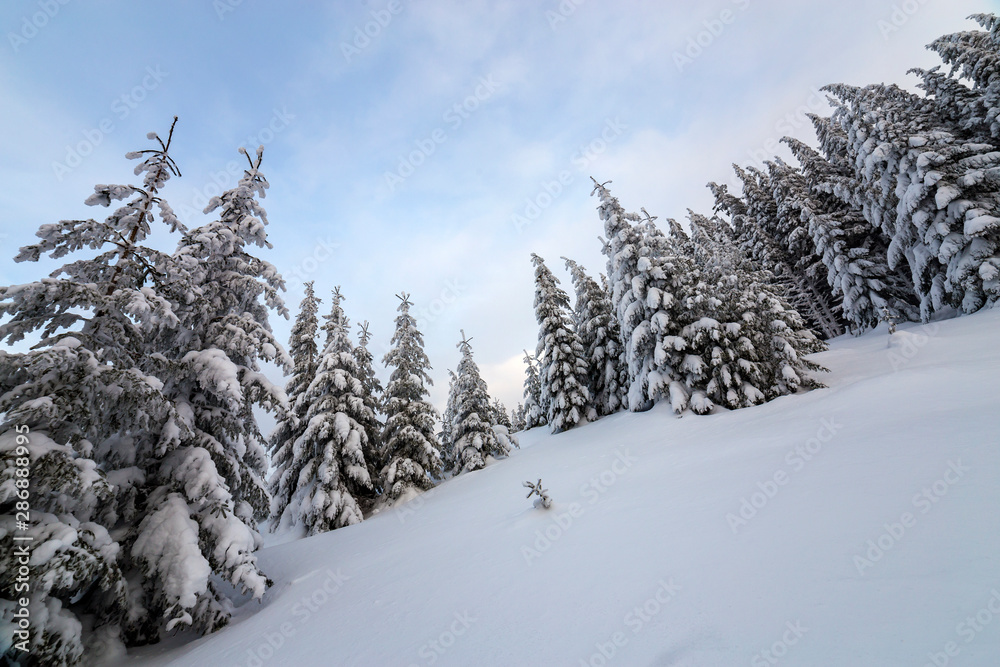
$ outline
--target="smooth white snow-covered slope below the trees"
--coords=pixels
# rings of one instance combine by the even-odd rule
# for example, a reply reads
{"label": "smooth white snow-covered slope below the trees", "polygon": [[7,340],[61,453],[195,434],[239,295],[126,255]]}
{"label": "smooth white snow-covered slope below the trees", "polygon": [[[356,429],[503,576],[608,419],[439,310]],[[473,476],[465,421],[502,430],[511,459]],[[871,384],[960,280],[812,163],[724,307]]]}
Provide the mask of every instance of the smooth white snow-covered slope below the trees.
{"label": "smooth white snow-covered slope below the trees", "polygon": [[828,389],[521,434],[263,550],[262,604],[125,664],[1000,664],[998,331],[1000,310],[880,329],[817,355]]}

